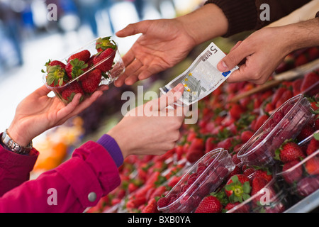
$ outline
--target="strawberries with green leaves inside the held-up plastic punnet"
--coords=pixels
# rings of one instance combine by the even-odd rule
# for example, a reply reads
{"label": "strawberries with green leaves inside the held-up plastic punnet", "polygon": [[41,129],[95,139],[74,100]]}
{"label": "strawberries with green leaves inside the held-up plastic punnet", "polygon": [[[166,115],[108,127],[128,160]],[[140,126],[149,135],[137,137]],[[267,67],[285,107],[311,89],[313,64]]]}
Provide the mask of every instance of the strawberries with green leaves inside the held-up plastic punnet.
{"label": "strawberries with green leaves inside the held-up plastic punnet", "polygon": [[[66,64],[58,60],[45,63],[46,83],[57,96],[67,104],[75,94],[92,94],[98,88],[101,77],[107,77],[115,57],[116,43],[110,37],[96,40],[96,50],[91,55],[89,50],[82,50],[69,56]],[[69,84],[68,84],[69,83]],[[67,84],[67,85],[66,85]],[[66,86],[65,86],[66,85]]]}

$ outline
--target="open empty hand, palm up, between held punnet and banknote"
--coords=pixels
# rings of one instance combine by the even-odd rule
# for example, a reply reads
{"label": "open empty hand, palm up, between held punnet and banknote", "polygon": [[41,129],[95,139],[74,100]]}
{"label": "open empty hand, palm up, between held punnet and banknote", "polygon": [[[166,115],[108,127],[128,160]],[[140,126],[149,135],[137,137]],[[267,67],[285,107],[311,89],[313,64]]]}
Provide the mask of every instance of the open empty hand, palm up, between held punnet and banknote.
{"label": "open empty hand, palm up, between held punnet and banknote", "polygon": [[183,60],[196,45],[178,19],[140,21],[128,25],[116,35],[126,37],[142,33],[132,48],[123,56],[125,72],[114,84],[132,85],[147,79]]}

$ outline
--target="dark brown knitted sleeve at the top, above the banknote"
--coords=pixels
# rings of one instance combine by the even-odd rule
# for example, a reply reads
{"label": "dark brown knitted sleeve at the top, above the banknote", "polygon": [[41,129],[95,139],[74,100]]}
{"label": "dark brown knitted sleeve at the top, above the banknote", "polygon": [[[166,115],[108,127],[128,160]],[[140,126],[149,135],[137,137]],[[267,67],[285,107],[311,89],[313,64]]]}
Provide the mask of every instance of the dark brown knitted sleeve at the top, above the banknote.
{"label": "dark brown knitted sleeve at the top, above the banknote", "polygon": [[[228,32],[224,37],[242,31],[257,30],[277,21],[292,11],[307,4],[310,0],[208,0],[205,4],[216,4],[228,18]],[[269,5],[269,21],[262,21],[262,4]]]}

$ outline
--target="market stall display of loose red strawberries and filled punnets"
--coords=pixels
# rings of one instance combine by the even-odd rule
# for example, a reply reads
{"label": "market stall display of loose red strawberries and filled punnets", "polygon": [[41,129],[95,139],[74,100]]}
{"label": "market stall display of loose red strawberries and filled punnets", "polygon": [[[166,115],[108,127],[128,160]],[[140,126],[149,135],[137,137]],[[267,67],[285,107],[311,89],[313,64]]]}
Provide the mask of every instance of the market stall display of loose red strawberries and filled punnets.
{"label": "market stall display of loose red strawberries and filled punnets", "polygon": [[[306,48],[291,53],[274,72],[274,77],[279,72],[286,72],[317,59],[318,50],[319,48]],[[301,59],[304,62],[301,62]],[[183,126],[183,137],[174,149],[159,157],[128,157],[119,170],[121,186],[103,197],[97,206],[87,212],[157,213],[167,212],[171,206],[176,208],[173,212],[196,212],[197,208],[198,212],[204,212],[205,210],[200,208],[203,206],[200,206],[201,202],[206,204],[206,207],[211,202],[211,206],[220,206],[220,209],[212,209],[209,212],[278,213],[289,211],[290,207],[318,191],[319,68],[238,101],[231,101],[236,95],[257,87],[260,85],[249,82],[222,84],[198,102],[197,123]],[[312,148],[315,151],[308,155],[305,147],[310,138],[315,141],[312,142],[315,144]],[[283,150],[286,143],[303,145],[302,153],[296,155],[295,160],[288,159],[287,163],[279,158],[279,151]],[[272,149],[264,149],[269,148],[269,145],[272,145]],[[262,148],[261,151],[259,147]],[[218,177],[214,179],[215,175],[213,178],[198,177],[194,179],[196,186],[188,187],[188,180],[191,178],[189,173],[198,171],[201,158],[218,149],[232,157],[231,164],[234,166],[225,171],[221,181],[217,181],[221,179]],[[250,151],[266,155],[245,158],[245,154],[254,153]],[[282,151],[282,157],[285,156],[284,153]],[[290,154],[289,151],[286,153]],[[310,172],[305,172],[306,163]],[[305,167],[303,172],[297,170],[301,169],[301,166]],[[298,180],[292,179],[295,172],[300,175]],[[241,181],[243,178],[246,178],[246,184]],[[206,190],[206,196],[201,196],[199,201],[196,192],[198,187],[205,185],[207,179],[218,182],[218,186]],[[308,187],[296,191],[298,181],[303,181],[302,185]],[[236,193],[229,193],[232,187],[241,187],[243,194],[237,199],[233,198]],[[177,194],[177,188],[181,190],[178,196],[172,196],[169,201],[161,199]],[[212,199],[212,196],[215,199]],[[183,203],[187,204],[189,201],[197,206],[183,210],[186,207]],[[318,205],[313,205],[313,208]]]}

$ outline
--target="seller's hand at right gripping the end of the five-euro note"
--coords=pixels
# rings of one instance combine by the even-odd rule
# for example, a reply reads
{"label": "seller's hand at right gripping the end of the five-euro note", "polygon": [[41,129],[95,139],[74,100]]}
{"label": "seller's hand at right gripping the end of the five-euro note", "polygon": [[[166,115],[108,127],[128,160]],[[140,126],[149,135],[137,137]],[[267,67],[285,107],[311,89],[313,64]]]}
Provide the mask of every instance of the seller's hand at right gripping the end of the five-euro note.
{"label": "seller's hand at right gripping the end of the five-euro note", "polygon": [[285,35],[285,28],[262,28],[248,38],[238,42],[229,54],[218,63],[220,72],[227,72],[245,60],[228,82],[248,81],[264,84],[276,67],[291,52],[291,38]]}

